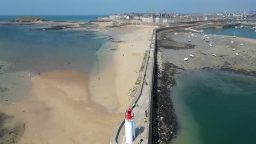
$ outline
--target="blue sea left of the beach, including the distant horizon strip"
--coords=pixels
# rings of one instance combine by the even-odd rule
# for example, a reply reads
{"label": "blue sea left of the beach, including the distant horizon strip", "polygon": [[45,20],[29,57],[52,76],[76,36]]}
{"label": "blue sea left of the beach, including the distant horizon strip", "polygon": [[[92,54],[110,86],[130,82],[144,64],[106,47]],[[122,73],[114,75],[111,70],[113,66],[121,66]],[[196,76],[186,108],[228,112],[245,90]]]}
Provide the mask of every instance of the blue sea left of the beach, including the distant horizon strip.
{"label": "blue sea left of the beach, including the distant horizon strip", "polygon": [[[68,20],[64,17],[57,16],[55,20]],[[97,16],[69,17],[71,21],[97,19]],[[8,19],[13,20],[13,17]],[[110,49],[115,46],[108,36],[104,36],[106,34],[27,30],[35,27],[46,26],[0,26],[0,105],[15,103],[26,97],[31,86],[29,75],[51,70],[94,75],[112,61],[113,51]]]}

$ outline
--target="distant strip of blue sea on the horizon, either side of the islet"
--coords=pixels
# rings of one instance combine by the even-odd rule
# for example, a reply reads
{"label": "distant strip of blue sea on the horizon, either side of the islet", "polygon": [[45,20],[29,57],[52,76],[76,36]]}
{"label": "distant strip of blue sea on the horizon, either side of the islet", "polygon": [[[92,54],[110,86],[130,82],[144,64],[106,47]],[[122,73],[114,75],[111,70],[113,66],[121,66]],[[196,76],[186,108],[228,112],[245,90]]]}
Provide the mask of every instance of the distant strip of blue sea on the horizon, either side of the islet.
{"label": "distant strip of blue sea on the horizon, either side of the islet", "polygon": [[[13,21],[23,15],[0,15],[0,21]],[[98,17],[108,17],[109,15],[39,15],[49,21],[90,21],[97,20]]]}

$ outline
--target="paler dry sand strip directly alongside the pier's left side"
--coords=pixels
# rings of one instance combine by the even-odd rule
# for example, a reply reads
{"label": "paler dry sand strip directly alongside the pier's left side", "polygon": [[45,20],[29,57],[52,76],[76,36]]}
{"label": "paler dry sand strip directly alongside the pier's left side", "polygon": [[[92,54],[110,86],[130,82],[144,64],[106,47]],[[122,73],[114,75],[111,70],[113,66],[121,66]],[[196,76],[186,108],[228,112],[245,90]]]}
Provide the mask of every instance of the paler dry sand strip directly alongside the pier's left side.
{"label": "paler dry sand strip directly alongside the pier's left side", "polygon": [[124,112],[127,109],[133,100],[128,95],[129,89],[136,86],[154,28],[156,27],[124,26],[115,31],[117,35],[114,37],[124,40],[124,43],[117,43],[118,49],[113,54],[113,62],[90,79],[92,100],[109,110]]}

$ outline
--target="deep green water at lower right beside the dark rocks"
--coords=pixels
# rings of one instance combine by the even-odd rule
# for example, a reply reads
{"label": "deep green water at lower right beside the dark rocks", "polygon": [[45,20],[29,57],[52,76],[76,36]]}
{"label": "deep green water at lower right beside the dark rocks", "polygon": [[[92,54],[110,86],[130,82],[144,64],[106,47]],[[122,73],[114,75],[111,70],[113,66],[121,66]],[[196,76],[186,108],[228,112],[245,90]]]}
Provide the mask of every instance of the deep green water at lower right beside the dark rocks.
{"label": "deep green water at lower right beside the dark rocks", "polygon": [[176,77],[172,100],[180,143],[256,143],[256,79],[218,70]]}

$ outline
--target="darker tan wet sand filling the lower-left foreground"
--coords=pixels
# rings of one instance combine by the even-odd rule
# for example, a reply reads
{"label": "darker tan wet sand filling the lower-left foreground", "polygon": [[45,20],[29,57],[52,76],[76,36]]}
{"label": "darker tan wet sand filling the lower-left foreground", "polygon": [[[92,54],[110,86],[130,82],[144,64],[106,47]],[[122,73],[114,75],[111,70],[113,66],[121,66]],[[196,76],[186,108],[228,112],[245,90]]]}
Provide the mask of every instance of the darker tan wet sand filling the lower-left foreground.
{"label": "darker tan wet sand filling the lower-left foreground", "polygon": [[90,100],[88,76],[74,71],[50,71],[32,77],[32,83],[24,100],[1,108],[6,115],[14,116],[5,121],[5,128],[24,125],[19,143],[109,141],[108,135],[120,114],[109,113]]}

